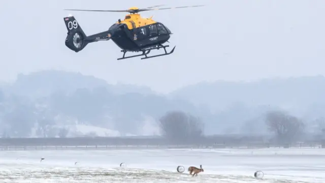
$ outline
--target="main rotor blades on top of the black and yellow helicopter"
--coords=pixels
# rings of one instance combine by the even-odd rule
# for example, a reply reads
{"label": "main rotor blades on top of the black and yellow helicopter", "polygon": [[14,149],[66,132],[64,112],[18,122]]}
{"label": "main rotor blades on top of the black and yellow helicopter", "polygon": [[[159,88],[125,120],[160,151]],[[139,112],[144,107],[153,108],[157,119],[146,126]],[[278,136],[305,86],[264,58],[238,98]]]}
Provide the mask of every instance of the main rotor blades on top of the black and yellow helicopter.
{"label": "main rotor blades on top of the black and yellow helicopter", "polygon": [[77,9],[64,9],[64,10],[69,10],[69,11],[89,11],[89,12],[127,12],[131,14],[143,12],[143,11],[152,11],[152,10],[169,10],[169,9],[178,9],[178,8],[191,8],[191,7],[202,7],[205,5],[195,5],[195,6],[182,6],[182,7],[172,7],[172,8],[156,8],[164,5],[156,5],[156,6],[151,6],[147,7],[144,9],[139,9],[137,7],[132,7],[129,8],[128,10],[77,10]]}

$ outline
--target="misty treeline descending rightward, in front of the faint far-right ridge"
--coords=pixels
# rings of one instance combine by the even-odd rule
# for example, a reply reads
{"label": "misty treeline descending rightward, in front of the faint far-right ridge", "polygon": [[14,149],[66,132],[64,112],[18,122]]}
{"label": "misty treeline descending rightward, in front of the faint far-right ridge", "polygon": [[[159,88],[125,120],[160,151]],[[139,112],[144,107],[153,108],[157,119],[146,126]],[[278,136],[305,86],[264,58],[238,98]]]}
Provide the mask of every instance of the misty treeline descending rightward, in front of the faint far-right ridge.
{"label": "misty treeline descending rightward, in front of the faint far-right ridge", "polygon": [[324,118],[313,118],[313,114],[299,118],[268,105],[252,107],[241,102],[211,112],[206,105],[157,95],[146,87],[109,85],[92,76],[61,71],[20,75],[13,84],[0,86],[3,137],[96,136],[72,134],[76,125],[89,125],[121,135],[144,135],[157,128],[153,131],[182,141],[225,133],[271,133],[276,140],[295,141],[325,129]]}

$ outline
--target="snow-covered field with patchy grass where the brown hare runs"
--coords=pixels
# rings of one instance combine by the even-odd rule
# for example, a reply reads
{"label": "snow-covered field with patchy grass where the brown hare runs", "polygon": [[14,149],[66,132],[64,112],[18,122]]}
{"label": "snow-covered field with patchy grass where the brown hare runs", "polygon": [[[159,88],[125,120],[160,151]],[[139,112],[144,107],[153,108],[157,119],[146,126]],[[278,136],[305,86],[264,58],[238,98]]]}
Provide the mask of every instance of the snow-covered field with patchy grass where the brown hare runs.
{"label": "snow-covered field with patchy grass where the brown hare runs", "polygon": [[[197,177],[176,171],[201,164]],[[256,170],[263,180],[253,177]],[[0,151],[0,182],[323,183],[325,149]]]}

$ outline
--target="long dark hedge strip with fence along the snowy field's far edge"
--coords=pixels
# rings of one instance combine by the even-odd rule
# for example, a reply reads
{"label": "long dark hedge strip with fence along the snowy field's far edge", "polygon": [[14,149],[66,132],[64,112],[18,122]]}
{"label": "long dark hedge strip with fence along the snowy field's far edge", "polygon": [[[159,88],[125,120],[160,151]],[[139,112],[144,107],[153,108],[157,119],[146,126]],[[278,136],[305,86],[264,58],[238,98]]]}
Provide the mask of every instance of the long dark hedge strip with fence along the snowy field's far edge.
{"label": "long dark hedge strip with fence along the snowy field's far edge", "polygon": [[325,140],[276,143],[261,136],[202,137],[177,141],[148,137],[0,138],[0,150],[167,149],[167,148],[325,148]]}

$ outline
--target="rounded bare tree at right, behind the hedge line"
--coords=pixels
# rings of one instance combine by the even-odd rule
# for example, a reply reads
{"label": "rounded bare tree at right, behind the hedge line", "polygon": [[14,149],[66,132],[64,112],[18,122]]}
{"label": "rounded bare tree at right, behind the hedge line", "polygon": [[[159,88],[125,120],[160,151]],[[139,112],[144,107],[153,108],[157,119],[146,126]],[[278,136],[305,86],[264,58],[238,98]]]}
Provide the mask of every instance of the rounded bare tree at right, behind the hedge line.
{"label": "rounded bare tree at right, behind the hedge line", "polygon": [[283,111],[271,111],[266,115],[266,124],[279,141],[291,143],[302,134],[304,123],[295,116]]}

